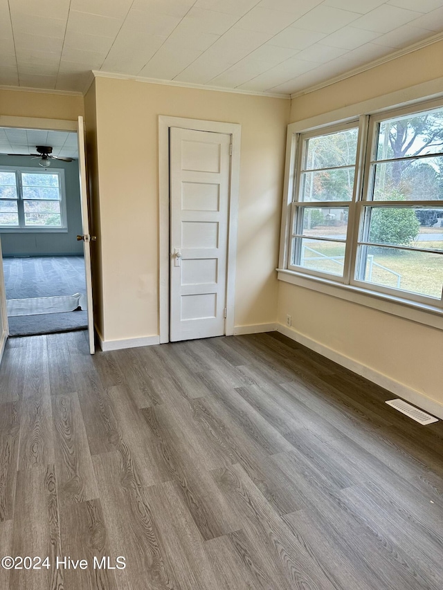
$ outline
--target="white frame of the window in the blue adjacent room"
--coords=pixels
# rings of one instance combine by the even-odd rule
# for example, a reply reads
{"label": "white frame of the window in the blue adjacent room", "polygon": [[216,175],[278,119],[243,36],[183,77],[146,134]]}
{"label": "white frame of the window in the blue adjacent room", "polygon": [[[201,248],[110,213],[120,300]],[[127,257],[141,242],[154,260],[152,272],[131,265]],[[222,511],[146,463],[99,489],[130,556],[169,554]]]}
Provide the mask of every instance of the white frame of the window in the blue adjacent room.
{"label": "white frame of the window in the blue adjacent room", "polygon": [[[17,203],[19,212],[19,224],[21,225],[0,225],[0,233],[41,233],[41,232],[67,232],[68,223],[66,215],[66,186],[64,181],[63,168],[51,168],[48,170],[39,170],[32,167],[22,166],[0,166],[1,172],[12,172],[15,174],[17,187]],[[29,174],[57,174],[59,178],[60,191],[60,217],[61,225],[24,225],[24,200],[21,190],[21,173]]]}

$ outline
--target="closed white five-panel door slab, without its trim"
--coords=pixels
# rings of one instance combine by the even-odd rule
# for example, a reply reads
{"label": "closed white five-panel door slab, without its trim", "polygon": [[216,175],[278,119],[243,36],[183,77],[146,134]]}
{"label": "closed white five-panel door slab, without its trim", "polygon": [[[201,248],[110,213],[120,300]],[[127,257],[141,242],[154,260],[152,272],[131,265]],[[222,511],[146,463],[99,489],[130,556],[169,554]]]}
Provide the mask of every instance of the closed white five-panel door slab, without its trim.
{"label": "closed white five-panel door slab, without its trim", "polygon": [[170,340],[224,334],[230,183],[226,133],[170,129]]}

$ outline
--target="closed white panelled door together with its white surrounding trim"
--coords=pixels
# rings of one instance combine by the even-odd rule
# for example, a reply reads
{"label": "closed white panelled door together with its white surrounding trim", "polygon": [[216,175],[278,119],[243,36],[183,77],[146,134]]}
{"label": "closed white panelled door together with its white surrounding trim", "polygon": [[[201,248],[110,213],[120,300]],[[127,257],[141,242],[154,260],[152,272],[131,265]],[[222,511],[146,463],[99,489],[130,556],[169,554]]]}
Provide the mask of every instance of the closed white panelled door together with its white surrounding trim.
{"label": "closed white panelled door together with its white surrounding trim", "polygon": [[159,117],[161,342],[233,334],[240,136]]}

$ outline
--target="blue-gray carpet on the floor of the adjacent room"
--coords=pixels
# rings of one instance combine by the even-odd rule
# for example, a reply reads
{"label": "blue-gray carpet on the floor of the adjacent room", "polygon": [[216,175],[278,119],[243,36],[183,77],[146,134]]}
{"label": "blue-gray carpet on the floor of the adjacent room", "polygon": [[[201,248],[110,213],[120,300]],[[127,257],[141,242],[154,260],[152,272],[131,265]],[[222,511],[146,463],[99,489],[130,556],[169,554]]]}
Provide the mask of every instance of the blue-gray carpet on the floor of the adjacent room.
{"label": "blue-gray carpet on the floor of the adjacent room", "polygon": [[[4,258],[6,299],[86,293],[82,256]],[[9,317],[11,336],[87,329],[87,311]]]}

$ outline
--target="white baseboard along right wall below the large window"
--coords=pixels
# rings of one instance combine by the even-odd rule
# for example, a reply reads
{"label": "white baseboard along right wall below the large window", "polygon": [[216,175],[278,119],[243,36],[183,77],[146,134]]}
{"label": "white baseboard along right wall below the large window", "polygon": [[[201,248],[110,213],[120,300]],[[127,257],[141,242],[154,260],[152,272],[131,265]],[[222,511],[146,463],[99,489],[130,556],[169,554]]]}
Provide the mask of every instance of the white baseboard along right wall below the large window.
{"label": "white baseboard along right wall below the large window", "polygon": [[317,342],[317,340],[312,340],[308,336],[294,330],[293,328],[289,328],[288,326],[284,326],[283,324],[277,324],[277,331],[284,334],[291,340],[295,340],[303,346],[318,352],[319,354],[337,362],[338,365],[342,365],[342,367],[346,367],[346,369],[350,369],[350,371],[354,371],[354,373],[365,377],[366,379],[388,389],[388,391],[392,391],[392,394],[403,398],[404,400],[416,405],[417,407],[423,409],[425,412],[429,414],[433,414],[433,416],[437,416],[437,418],[443,419],[443,404],[431,400],[430,398],[424,396],[419,391],[415,389],[411,389],[404,383],[396,381],[384,375],[383,373],[379,373],[375,369],[371,367],[367,367],[363,365],[363,363],[354,360],[348,356],[345,356],[342,353],[334,351],[334,349],[330,349],[326,347],[324,344]]}

